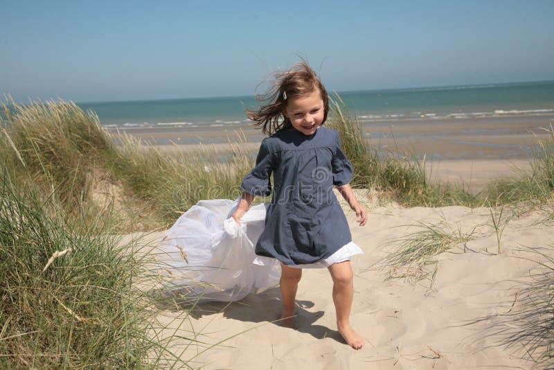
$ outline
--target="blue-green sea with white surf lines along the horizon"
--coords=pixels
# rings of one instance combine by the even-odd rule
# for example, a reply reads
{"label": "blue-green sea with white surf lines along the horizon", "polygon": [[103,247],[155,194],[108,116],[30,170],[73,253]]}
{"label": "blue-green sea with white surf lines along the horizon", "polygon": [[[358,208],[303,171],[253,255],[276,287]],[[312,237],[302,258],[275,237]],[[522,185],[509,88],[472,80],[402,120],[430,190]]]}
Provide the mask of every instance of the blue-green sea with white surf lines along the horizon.
{"label": "blue-green sea with white surf lines along the horizon", "polygon": [[[334,94],[330,92],[333,97]],[[362,125],[375,122],[445,122],[463,119],[554,117],[554,81],[427,87],[338,93]],[[244,107],[254,96],[77,103],[105,127],[236,127],[249,125]]]}

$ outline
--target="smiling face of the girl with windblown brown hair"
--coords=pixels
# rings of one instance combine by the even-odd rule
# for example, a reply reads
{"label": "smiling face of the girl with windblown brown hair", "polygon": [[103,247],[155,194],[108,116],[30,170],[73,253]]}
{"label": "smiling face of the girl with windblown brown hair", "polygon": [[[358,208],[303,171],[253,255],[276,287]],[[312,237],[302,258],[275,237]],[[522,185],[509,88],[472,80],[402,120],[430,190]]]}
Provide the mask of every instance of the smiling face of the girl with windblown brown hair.
{"label": "smiling face of the girl with windblown brown hair", "polygon": [[323,99],[319,89],[315,89],[305,96],[289,98],[283,114],[289,118],[292,127],[296,130],[305,135],[314,134],[323,122],[323,116],[325,116]]}

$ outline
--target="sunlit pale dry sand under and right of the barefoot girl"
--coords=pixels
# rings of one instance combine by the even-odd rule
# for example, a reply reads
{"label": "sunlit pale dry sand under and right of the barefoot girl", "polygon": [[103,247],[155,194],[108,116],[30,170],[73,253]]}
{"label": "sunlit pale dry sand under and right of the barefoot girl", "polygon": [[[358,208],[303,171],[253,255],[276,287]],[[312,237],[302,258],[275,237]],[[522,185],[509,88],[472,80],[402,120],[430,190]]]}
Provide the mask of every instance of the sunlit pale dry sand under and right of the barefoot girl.
{"label": "sunlit pale dry sand under and right of the barefoot girl", "polygon": [[[172,329],[162,335],[184,337],[170,350],[202,369],[535,368],[524,359],[521,344],[506,345],[520,329],[503,314],[517,311],[521,282],[530,282],[530,271],[539,267],[519,257],[537,259],[529,247],[546,247],[553,255],[553,227],[541,222],[544,213],[510,213],[497,254],[489,209],[366,206],[365,227],[345,209],[352,238],[364,249],[352,259],[351,315],[352,326],[366,340],[363,349],[351,349],[337,332],[328,271],[305,270],[296,330],[273,322],[280,315],[280,294],[272,288],[238,302],[203,303],[189,314],[179,306],[163,311],[158,319]],[[438,264],[429,265],[429,272],[436,268],[432,280],[386,280],[382,258],[397,248],[399,238],[420,231],[420,223],[473,233],[474,239],[440,254]]]}

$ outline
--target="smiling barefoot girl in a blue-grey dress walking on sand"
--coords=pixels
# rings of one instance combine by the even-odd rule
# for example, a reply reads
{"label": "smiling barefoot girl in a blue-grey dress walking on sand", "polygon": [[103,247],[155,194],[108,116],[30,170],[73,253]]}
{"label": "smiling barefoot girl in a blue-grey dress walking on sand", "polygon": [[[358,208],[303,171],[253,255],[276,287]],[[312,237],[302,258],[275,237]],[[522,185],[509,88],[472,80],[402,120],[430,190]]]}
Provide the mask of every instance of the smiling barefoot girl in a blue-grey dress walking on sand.
{"label": "smiling barefoot girl in a blue-grey dress walking on sand", "polygon": [[258,258],[280,261],[283,326],[294,327],[294,308],[302,268],[328,267],[337,327],[346,343],[361,349],[364,340],[350,327],[354,286],[350,256],[361,253],[352,243],[348,222],[332,192],[341,195],[356,212],[360,226],[366,210],[348,184],[352,164],[341,150],[339,133],[323,127],[329,97],[316,73],[306,63],[277,73],[274,87],[265,95],[269,103],[258,111],[247,110],[255,125],[271,136],[262,141],[256,167],[244,177],[242,199],[231,217],[240,224],[256,195],[271,194],[265,229],[256,243]]}

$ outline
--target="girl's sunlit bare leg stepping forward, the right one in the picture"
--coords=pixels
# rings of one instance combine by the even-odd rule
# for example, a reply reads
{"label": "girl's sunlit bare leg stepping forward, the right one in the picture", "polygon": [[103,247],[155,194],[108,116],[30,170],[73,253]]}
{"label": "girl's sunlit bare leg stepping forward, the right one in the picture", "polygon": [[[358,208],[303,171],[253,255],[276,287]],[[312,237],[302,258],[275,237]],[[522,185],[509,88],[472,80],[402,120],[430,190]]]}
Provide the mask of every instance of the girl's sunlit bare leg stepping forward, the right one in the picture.
{"label": "girl's sunlit bare leg stepping forward, the right one in the picture", "polygon": [[364,346],[364,338],[350,326],[350,309],[354,298],[354,273],[350,261],[334,263],[328,268],[333,279],[333,301],[337,310],[339,333],[353,349],[361,349]]}

